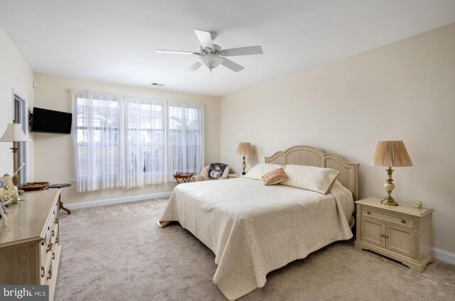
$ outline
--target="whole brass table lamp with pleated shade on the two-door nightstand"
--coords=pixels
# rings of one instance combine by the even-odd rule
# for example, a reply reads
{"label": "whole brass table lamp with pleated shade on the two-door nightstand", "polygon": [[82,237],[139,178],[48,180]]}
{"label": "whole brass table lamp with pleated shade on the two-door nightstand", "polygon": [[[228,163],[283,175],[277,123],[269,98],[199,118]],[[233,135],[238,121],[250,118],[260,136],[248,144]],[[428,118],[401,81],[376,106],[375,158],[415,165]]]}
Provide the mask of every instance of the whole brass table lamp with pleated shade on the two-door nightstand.
{"label": "whole brass table lamp with pleated shade on the two-door nightstand", "polygon": [[397,206],[398,203],[392,197],[392,190],[395,185],[392,180],[392,167],[412,166],[410,155],[407,154],[405,143],[403,141],[379,141],[376,145],[375,154],[371,165],[388,167],[387,180],[384,184],[387,191],[387,197],[382,199],[381,203],[387,206]]}

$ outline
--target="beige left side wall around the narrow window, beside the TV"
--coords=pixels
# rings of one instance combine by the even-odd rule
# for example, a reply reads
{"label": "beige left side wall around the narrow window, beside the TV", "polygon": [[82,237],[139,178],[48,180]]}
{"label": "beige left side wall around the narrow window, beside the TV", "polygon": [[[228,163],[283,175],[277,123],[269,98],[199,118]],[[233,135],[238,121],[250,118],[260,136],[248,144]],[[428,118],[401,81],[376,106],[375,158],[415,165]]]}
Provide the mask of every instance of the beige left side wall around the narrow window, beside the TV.
{"label": "beige left side wall around the narrow window, beside the TV", "polygon": [[[33,72],[0,26],[0,136],[13,121],[14,92],[33,106]],[[31,137],[33,139],[33,137]],[[27,143],[27,179],[33,180],[33,142]],[[0,142],[0,175],[13,171],[13,143]]]}

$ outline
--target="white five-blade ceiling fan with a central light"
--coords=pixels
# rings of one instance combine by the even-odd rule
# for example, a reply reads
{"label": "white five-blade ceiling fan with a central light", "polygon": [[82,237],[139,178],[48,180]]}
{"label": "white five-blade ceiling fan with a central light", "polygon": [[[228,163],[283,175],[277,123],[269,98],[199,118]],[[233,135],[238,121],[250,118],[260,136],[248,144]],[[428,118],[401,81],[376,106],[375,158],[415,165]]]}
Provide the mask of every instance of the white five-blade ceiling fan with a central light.
{"label": "white five-blade ceiling fan with a central light", "polygon": [[240,48],[230,48],[223,49],[220,46],[213,44],[217,33],[211,31],[201,31],[195,29],[194,32],[198,37],[200,43],[200,50],[198,53],[193,53],[191,51],[178,51],[178,50],[156,50],[157,53],[172,53],[177,55],[198,55],[198,61],[195,62],[191,67],[188,68],[188,71],[196,71],[202,65],[208,67],[210,72],[213,68],[218,67],[218,65],[223,65],[228,67],[230,70],[239,72],[244,67],[238,65],[236,62],[232,62],[225,57],[235,56],[235,55],[262,55],[261,46],[249,46],[249,47],[240,47]]}

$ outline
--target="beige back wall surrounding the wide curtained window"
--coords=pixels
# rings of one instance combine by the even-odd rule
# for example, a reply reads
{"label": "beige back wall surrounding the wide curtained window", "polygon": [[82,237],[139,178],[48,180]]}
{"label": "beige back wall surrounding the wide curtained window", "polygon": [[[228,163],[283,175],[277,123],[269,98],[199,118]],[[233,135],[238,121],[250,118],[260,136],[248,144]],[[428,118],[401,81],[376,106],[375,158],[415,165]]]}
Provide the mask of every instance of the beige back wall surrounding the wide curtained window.
{"label": "beige back wall surrounding the wide curtained window", "polygon": [[[220,99],[197,94],[169,92],[146,87],[133,87],[122,84],[79,80],[69,77],[35,74],[35,106],[58,111],[71,111],[71,97],[68,89],[87,89],[113,92],[139,97],[158,97],[203,102],[205,111],[205,163],[220,160]],[[73,180],[73,134],[34,133],[36,180],[71,182]],[[150,185],[131,189],[109,189],[96,192],[77,193],[75,185],[62,190],[65,204],[92,202],[101,199],[133,197],[159,192],[170,192],[173,183]]]}

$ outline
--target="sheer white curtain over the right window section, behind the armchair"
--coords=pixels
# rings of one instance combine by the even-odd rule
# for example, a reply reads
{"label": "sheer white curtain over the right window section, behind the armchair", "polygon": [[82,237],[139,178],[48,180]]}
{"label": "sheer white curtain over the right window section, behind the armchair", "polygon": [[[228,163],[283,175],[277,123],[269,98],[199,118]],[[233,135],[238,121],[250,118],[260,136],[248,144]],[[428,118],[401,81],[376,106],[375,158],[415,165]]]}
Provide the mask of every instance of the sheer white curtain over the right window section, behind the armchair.
{"label": "sheer white curtain over the right window section, behind the armchair", "polygon": [[168,181],[177,171],[200,173],[203,168],[203,116],[203,104],[168,102]]}

